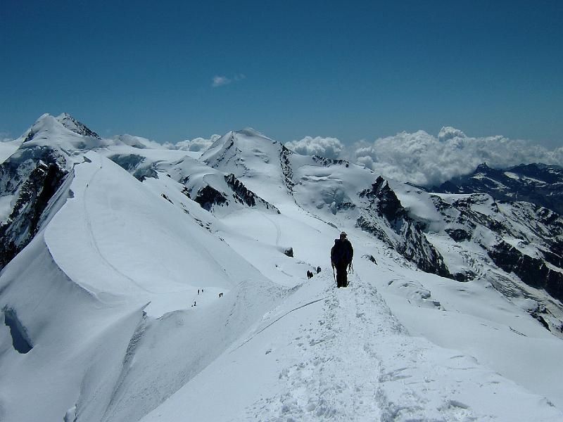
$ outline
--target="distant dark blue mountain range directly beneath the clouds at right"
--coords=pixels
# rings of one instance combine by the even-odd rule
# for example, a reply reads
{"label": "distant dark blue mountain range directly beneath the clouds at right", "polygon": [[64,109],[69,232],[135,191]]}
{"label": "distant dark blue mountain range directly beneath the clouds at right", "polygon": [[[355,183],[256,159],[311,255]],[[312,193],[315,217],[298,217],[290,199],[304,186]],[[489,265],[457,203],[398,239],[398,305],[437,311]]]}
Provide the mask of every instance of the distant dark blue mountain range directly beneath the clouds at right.
{"label": "distant dark blue mountain range directly beneath the clouds at right", "polygon": [[495,200],[526,201],[563,214],[563,169],[555,165],[517,165],[495,170],[481,164],[473,174],[455,177],[429,191],[487,193]]}

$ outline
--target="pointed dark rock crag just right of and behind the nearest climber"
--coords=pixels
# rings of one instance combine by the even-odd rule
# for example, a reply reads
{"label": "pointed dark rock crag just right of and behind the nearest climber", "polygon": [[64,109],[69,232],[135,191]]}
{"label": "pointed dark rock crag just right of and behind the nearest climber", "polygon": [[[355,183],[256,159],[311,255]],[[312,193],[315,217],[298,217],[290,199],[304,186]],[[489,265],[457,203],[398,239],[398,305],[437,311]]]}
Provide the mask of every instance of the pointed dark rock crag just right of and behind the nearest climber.
{"label": "pointed dark rock crag just right of and behind the nearest climber", "polygon": [[[422,271],[453,279],[440,252],[424,236],[422,226],[409,217],[395,192],[382,177],[377,178],[371,189],[360,192],[360,198],[369,200],[367,210],[357,220],[361,229],[395,248]],[[391,231],[381,226],[380,222],[385,222]]]}

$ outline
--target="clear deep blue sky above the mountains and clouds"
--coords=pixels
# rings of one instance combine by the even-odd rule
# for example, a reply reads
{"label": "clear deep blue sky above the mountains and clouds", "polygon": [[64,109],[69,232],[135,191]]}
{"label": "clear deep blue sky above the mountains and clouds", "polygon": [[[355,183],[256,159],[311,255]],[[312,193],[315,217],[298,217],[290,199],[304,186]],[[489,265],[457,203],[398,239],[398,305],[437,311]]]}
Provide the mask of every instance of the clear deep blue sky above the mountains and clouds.
{"label": "clear deep blue sky above the mountains and clouds", "polygon": [[4,0],[0,134],[68,112],[160,142],[454,126],[555,148],[562,22],[562,1]]}

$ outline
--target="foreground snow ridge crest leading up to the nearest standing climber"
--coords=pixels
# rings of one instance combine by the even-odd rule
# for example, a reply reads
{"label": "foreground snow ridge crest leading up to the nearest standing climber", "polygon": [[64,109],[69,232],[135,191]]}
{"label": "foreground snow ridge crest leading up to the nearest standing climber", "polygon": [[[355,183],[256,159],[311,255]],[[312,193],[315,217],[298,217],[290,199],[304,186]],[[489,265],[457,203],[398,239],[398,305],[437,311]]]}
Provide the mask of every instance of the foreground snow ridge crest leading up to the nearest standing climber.
{"label": "foreground snow ridge crest leading up to the nearest standing climber", "polygon": [[305,283],[141,421],[555,421],[469,354],[412,337],[374,286]]}

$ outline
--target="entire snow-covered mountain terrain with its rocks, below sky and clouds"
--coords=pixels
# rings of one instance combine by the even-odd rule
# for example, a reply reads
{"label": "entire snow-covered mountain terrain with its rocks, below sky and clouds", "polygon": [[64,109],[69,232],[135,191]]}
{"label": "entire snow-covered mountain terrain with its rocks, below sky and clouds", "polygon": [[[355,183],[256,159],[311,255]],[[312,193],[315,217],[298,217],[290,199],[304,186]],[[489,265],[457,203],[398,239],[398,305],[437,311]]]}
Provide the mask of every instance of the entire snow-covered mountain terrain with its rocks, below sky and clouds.
{"label": "entire snow-covered mountain terrain with its rocks, below sky and clouds", "polygon": [[563,421],[556,212],[253,129],[199,156],[44,115],[18,142],[1,420]]}

